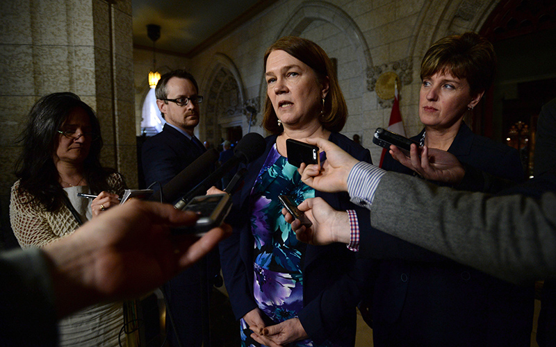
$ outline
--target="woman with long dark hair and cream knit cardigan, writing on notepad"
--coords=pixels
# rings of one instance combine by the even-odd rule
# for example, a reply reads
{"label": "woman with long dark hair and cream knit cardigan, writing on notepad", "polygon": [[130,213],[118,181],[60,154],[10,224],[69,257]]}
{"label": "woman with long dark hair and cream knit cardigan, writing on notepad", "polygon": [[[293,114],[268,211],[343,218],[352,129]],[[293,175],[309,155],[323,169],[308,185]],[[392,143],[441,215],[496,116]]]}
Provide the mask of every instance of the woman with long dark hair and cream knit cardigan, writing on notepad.
{"label": "woman with long dark hair and cream knit cardigan, writing on notepad", "polygon": [[[124,180],[101,167],[99,121],[79,96],[65,92],[42,97],[31,108],[21,142],[10,221],[22,248],[70,235],[120,203]],[[122,325],[122,303],[88,307],[58,323],[60,346],[117,346]]]}

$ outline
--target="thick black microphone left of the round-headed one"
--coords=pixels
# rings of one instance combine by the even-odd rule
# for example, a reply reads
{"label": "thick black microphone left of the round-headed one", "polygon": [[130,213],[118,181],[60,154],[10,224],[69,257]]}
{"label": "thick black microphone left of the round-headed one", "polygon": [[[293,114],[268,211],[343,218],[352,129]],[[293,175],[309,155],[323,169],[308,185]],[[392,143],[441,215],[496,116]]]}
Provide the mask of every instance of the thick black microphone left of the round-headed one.
{"label": "thick black microphone left of the round-headed one", "polygon": [[188,192],[189,189],[199,183],[199,180],[206,175],[206,172],[211,170],[216,160],[218,160],[218,151],[209,149],[189,164],[188,167],[181,170],[179,174],[163,185],[161,189],[154,192],[149,197],[149,200],[161,201],[162,197],[163,203],[174,203],[174,201],[183,196],[183,192]]}

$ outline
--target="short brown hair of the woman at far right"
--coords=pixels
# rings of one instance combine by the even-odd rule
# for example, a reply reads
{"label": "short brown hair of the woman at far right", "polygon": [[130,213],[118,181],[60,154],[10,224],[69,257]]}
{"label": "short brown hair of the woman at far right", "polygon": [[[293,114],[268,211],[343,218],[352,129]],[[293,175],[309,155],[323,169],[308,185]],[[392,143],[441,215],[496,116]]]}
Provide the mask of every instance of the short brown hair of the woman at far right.
{"label": "short brown hair of the woman at far right", "polygon": [[494,47],[477,33],[450,35],[432,44],[421,62],[421,80],[437,72],[466,78],[471,94],[489,89],[496,73]]}

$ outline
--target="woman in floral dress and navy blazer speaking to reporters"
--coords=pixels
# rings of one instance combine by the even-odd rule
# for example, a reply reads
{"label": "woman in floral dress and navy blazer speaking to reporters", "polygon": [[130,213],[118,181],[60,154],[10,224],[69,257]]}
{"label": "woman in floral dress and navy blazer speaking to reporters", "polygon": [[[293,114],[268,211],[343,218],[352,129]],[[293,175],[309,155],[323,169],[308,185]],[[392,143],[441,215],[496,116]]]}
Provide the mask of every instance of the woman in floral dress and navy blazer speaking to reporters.
{"label": "woman in floral dress and navy blazer speaking to reporters", "polygon": [[[357,271],[364,271],[345,245],[310,246],[297,241],[284,221],[278,196],[300,203],[322,196],[334,208],[363,209],[347,194],[316,192],[287,162],[286,139],[322,137],[359,160],[367,149],[338,131],[347,108],[332,62],[317,44],[282,37],[265,53],[267,98],[263,125],[274,135],[248,167],[227,222],[234,233],[220,244],[224,281],[240,319],[242,346],[354,346],[359,301]],[[321,161],[326,160],[321,153]],[[354,212],[357,213],[357,212]],[[361,267],[360,267],[361,266]]]}

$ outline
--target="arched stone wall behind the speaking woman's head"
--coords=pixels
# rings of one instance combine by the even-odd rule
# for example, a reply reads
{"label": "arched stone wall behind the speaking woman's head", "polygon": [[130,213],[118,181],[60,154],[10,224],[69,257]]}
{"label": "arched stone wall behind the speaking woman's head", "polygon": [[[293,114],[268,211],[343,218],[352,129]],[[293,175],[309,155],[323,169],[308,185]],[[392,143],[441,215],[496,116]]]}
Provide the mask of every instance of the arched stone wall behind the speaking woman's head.
{"label": "arched stone wall behind the speaking woman's head", "polygon": [[[496,3],[497,0],[279,1],[192,58],[190,69],[200,76],[201,90],[211,90],[215,70],[223,66],[235,69],[238,98],[244,105],[258,101],[260,111],[266,92],[266,47],[284,35],[313,40],[337,62],[338,79],[350,112],[343,133],[349,137],[359,134],[363,146],[378,162],[381,149],[372,144],[372,136],[375,128],[388,125],[393,99],[377,96],[376,78],[386,71],[400,76],[405,130],[408,135],[418,133],[418,69],[423,54],[432,42],[449,33],[478,30]],[[245,133],[248,122],[248,117],[236,117],[231,124],[240,124]],[[226,124],[202,118],[199,136],[217,136],[221,133],[219,127]],[[264,134],[260,124],[259,112],[251,130]]]}

